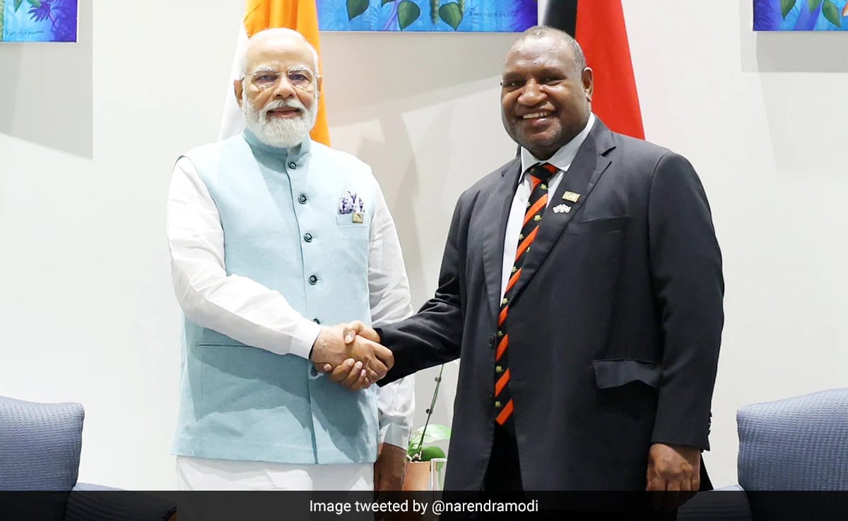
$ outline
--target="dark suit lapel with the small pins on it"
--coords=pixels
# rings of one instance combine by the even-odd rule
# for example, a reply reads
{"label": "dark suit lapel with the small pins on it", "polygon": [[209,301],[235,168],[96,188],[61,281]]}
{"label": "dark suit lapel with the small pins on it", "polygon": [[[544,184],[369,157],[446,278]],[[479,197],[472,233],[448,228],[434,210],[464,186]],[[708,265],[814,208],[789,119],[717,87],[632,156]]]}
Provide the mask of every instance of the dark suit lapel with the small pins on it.
{"label": "dark suit lapel with the small pins on it", "polygon": [[[596,119],[592,131],[589,132],[586,141],[583,141],[577,156],[562,176],[560,185],[557,186],[556,192],[548,202],[548,208],[544,211],[542,223],[538,227],[538,235],[527,252],[527,258],[524,259],[522,274],[516,282],[515,295],[512,297],[513,302],[527,283],[533,279],[533,275],[548,257],[563,230],[573,216],[579,213],[600,176],[610,166],[611,160],[606,157],[606,154],[613,148],[615,143],[612,141],[611,131],[600,122],[600,119]],[[569,200],[575,198],[571,194],[564,198],[566,191],[579,194],[577,202]],[[558,207],[559,209],[555,212],[554,209]]]}

